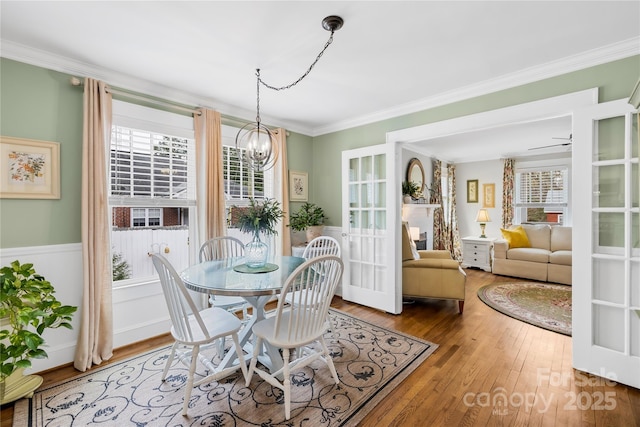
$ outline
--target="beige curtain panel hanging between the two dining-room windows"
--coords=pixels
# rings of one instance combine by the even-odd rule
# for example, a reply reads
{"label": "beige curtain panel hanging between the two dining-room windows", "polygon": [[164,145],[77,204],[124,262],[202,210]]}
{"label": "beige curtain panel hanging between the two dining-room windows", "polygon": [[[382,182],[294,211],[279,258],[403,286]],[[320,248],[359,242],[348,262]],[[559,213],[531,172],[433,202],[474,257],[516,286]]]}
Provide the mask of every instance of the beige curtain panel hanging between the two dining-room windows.
{"label": "beige curtain panel hanging between the two dining-room windows", "polygon": [[[222,120],[220,113],[201,109],[194,115],[198,188],[198,235],[203,243],[224,236],[227,219],[222,171]],[[200,201],[203,201],[200,203]]]}

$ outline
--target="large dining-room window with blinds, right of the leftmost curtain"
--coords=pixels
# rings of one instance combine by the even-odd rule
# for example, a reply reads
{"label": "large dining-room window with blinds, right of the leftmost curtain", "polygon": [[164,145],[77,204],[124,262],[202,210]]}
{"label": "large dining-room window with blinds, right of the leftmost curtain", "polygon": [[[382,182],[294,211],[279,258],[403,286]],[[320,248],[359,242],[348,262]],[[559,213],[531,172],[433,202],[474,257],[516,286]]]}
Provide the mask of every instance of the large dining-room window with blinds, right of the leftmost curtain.
{"label": "large dining-room window with blinds, right of the leftmost curtain", "polygon": [[129,275],[115,286],[153,280],[149,253],[162,253],[180,271],[190,265],[195,236],[193,118],[113,103],[110,146],[112,258]]}

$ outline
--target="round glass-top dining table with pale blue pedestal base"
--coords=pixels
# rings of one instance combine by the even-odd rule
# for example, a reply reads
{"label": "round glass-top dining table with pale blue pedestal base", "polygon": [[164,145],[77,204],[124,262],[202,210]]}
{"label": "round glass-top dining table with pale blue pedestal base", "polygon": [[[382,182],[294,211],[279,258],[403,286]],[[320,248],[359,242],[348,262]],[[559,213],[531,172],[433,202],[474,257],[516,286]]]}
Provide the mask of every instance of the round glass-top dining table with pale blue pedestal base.
{"label": "round glass-top dining table with pale blue pedestal base", "polygon": [[[266,318],[265,305],[280,293],[287,278],[304,263],[304,258],[277,256],[263,267],[249,267],[244,257],[225,258],[194,264],[181,272],[185,286],[193,291],[240,296],[252,307],[252,315],[238,334],[240,346],[247,351],[247,359],[258,351],[258,360],[272,372],[282,368],[283,360],[277,348],[263,344],[255,348],[252,327]],[[222,356],[221,356],[222,357]],[[231,366],[237,360],[233,346],[222,358],[221,367]]]}

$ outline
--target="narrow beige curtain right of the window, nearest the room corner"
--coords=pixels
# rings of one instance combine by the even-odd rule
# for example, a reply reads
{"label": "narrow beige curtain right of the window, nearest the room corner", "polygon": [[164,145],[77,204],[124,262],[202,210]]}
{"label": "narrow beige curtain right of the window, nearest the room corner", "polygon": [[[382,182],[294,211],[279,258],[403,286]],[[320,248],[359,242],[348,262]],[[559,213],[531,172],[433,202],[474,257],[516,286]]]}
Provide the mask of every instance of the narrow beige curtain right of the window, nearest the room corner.
{"label": "narrow beige curtain right of the window, nearest the room corner", "polygon": [[[274,166],[276,200],[282,204],[284,218],[278,234],[281,236],[276,245],[281,246],[282,255],[291,255],[291,230],[289,229],[289,166],[287,163],[287,131],[278,128],[274,131],[274,143],[278,160]],[[277,249],[276,249],[277,250]]]}

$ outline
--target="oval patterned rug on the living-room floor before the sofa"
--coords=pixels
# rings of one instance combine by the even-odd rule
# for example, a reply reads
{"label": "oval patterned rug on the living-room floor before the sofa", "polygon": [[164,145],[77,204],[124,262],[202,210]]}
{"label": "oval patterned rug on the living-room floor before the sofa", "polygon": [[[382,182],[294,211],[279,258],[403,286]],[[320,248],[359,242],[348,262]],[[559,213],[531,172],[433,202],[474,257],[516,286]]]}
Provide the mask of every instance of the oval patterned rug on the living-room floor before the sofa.
{"label": "oval patterned rug on the living-room floor before the sofa", "polygon": [[489,307],[514,319],[571,335],[571,286],[550,283],[493,283],[478,289]]}

